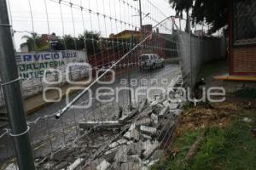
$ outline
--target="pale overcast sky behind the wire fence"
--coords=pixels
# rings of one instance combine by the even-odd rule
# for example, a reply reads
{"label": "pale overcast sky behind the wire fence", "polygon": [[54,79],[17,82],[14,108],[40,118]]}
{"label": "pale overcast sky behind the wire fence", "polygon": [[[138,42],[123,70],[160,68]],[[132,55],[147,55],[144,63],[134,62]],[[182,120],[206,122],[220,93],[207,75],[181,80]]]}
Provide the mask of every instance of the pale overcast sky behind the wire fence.
{"label": "pale overcast sky behind the wire fence", "polygon": [[[129,29],[134,30],[133,26],[139,27],[139,17],[137,16],[138,1],[134,0],[65,0],[61,3],[61,8],[58,0],[8,0],[10,18],[13,24],[13,29],[18,31],[15,33],[15,46],[17,49],[20,48],[20,43],[25,42],[25,39],[21,37],[26,35],[26,31],[35,31],[38,34],[48,34],[55,32],[58,36],[65,35],[76,35],[78,36],[85,30],[100,31],[102,37],[108,37],[110,33],[117,33],[119,31]],[[31,10],[29,1],[31,3]],[[48,12],[49,22],[47,21],[46,7]],[[103,16],[97,17],[96,14],[89,14],[88,10],[83,11],[84,26],[82,13],[77,6],[73,5],[73,17],[70,6],[67,6],[65,2],[71,2],[73,4],[81,5],[84,8],[90,8],[93,12],[99,12],[106,14],[118,20],[130,23],[133,26],[120,24],[119,21],[115,24],[113,20],[110,22],[108,18],[104,20]],[[119,3],[120,2],[120,3]],[[149,3],[151,2],[151,3]],[[127,5],[129,3],[131,6]],[[155,8],[154,5],[157,7]],[[142,0],[142,9],[144,14],[149,14],[154,20],[164,20],[165,16],[175,14],[175,11],[167,3],[167,0]],[[61,11],[64,27],[61,22]],[[31,16],[32,12],[32,16]],[[33,21],[32,21],[33,20]],[[90,20],[92,22],[90,22]],[[73,29],[73,22],[74,28]],[[105,29],[106,23],[106,29]],[[143,24],[156,24],[149,17],[143,19]],[[112,25],[112,28],[111,28]],[[164,25],[169,29],[172,29],[172,24],[169,21],[165,22]],[[48,29],[49,27],[49,29]],[[162,31],[165,29],[162,27]],[[167,31],[167,30],[166,30]]]}

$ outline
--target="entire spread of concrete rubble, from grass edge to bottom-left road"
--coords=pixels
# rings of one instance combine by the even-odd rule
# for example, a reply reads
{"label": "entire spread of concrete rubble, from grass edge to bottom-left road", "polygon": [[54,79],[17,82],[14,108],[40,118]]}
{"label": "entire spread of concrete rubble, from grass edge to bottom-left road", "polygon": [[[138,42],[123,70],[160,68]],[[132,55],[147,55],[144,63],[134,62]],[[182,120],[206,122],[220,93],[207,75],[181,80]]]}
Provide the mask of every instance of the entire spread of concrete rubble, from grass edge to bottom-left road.
{"label": "entire spread of concrete rubble, from grass edge to bottom-left road", "polygon": [[[181,77],[172,80],[169,88],[182,86]],[[171,98],[148,102],[142,100],[131,111],[124,110],[110,120],[79,122],[86,133],[73,141],[66,139],[65,149],[56,148],[54,155],[37,157],[38,169],[72,170],[147,170],[160,161],[172,141],[172,133],[181,114],[182,103],[171,102],[180,92],[171,90]],[[118,118],[119,117],[119,118]],[[41,154],[42,155],[42,154]],[[45,159],[46,158],[46,159]]]}

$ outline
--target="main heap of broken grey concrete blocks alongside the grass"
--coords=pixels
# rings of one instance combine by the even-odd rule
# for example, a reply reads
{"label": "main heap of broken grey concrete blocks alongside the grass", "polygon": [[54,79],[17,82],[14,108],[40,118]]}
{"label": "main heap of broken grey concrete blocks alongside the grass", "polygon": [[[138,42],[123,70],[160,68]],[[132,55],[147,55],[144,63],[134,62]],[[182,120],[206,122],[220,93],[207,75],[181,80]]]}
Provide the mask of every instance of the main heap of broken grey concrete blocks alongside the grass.
{"label": "main heap of broken grey concrete blocks alongside the grass", "polygon": [[[166,100],[145,107],[119,139],[108,144],[107,150],[90,162],[88,170],[146,170],[159,161],[164,153],[163,145],[172,136],[180,105],[171,105]],[[125,117],[119,123],[131,121]]]}

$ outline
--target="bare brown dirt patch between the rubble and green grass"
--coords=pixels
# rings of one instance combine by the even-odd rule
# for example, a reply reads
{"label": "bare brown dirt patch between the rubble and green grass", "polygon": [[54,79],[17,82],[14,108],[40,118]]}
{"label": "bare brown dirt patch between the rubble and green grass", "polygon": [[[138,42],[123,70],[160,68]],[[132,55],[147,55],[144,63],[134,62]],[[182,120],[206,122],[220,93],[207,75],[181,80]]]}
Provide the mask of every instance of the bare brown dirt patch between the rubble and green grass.
{"label": "bare brown dirt patch between the rubble and green grass", "polygon": [[246,110],[253,110],[256,113],[255,107],[249,107],[249,105],[236,102],[234,99],[216,105],[208,105],[207,108],[204,106],[190,108],[183,112],[176,135],[179,136],[187,130],[210,126],[226,127],[233,117],[241,115]]}

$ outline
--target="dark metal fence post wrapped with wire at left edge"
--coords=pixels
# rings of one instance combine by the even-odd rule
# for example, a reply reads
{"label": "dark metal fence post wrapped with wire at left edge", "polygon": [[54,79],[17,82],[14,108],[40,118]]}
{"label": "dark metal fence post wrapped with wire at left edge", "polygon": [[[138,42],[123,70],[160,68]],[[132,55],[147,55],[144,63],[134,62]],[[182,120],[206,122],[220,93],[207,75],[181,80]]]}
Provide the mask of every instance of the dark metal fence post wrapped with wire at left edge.
{"label": "dark metal fence post wrapped with wire at left edge", "polygon": [[34,170],[6,0],[0,0],[0,74],[19,169]]}

